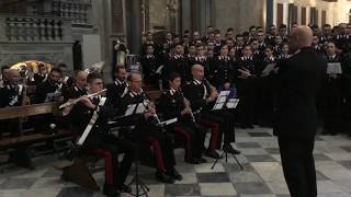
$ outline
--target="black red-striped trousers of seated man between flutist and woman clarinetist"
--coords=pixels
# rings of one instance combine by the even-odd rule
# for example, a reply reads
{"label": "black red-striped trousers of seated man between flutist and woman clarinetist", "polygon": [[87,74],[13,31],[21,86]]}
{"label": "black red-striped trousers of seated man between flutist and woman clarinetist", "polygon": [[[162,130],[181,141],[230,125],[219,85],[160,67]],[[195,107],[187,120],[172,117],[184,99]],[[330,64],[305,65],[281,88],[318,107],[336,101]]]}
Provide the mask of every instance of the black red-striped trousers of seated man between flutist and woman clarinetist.
{"label": "black red-striped trousers of seated man between flutist and woman clarinetist", "polygon": [[156,151],[156,160],[158,163],[157,170],[172,171],[174,169],[176,157],[173,152],[173,140],[169,134],[158,126],[146,124],[137,129],[137,136],[135,139],[138,139],[140,142],[151,142],[156,140],[159,146],[158,150],[154,150]]}

